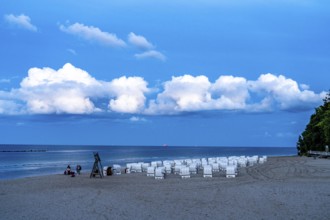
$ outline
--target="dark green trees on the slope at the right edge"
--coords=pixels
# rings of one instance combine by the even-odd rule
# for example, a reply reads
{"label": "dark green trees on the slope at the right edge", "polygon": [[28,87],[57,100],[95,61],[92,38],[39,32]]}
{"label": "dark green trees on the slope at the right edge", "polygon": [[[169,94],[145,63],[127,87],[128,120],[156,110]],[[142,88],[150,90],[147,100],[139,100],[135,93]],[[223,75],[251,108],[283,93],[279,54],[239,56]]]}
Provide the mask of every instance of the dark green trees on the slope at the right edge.
{"label": "dark green trees on the slope at the right edge", "polygon": [[330,146],[330,91],[323,101],[323,105],[315,109],[305,131],[298,138],[299,155],[306,155],[309,150],[324,151],[326,145]]}

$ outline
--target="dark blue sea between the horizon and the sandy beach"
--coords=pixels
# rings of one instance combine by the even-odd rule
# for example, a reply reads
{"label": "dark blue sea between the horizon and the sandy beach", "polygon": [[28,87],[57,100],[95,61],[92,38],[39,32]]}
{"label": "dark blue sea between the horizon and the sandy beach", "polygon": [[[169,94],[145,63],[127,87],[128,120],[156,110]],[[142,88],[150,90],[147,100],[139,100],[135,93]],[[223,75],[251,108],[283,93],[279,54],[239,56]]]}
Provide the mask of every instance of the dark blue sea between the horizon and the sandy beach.
{"label": "dark blue sea between the horizon and the sandy beach", "polygon": [[228,156],[293,156],[295,147],[208,147],[208,146],[78,146],[0,145],[0,180],[64,173],[78,164],[82,172],[92,170],[99,154],[102,166],[159,160]]}

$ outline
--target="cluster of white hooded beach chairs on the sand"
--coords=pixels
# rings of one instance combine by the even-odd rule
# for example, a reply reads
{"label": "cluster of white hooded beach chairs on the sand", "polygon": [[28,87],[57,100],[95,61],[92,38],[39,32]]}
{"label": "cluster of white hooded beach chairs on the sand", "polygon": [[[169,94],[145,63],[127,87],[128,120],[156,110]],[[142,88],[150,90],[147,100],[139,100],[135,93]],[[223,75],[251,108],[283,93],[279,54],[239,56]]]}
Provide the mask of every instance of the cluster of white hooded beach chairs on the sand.
{"label": "cluster of white hooded beach chairs on the sand", "polygon": [[[211,178],[216,172],[224,172],[227,178],[233,178],[237,176],[239,167],[263,164],[266,161],[267,156],[233,156],[152,161],[150,163],[139,162],[126,164],[125,173],[146,173],[147,176],[155,179],[164,179],[167,174],[177,174],[185,179],[197,173],[202,173],[205,178]],[[120,165],[113,167],[116,170],[114,174],[121,174]]]}

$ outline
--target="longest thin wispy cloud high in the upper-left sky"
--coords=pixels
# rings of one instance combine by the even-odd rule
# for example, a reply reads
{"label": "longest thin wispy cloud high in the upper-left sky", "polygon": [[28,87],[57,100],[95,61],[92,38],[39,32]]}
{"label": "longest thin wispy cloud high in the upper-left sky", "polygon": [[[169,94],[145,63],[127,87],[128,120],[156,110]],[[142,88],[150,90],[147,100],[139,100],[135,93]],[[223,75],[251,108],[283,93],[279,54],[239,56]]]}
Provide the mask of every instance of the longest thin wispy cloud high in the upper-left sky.
{"label": "longest thin wispy cloud high in the upper-left sky", "polygon": [[126,43],[119,39],[115,34],[104,32],[97,27],[86,26],[80,23],[74,23],[69,26],[60,25],[60,30],[79,36],[85,40],[98,42],[112,47],[125,47]]}

